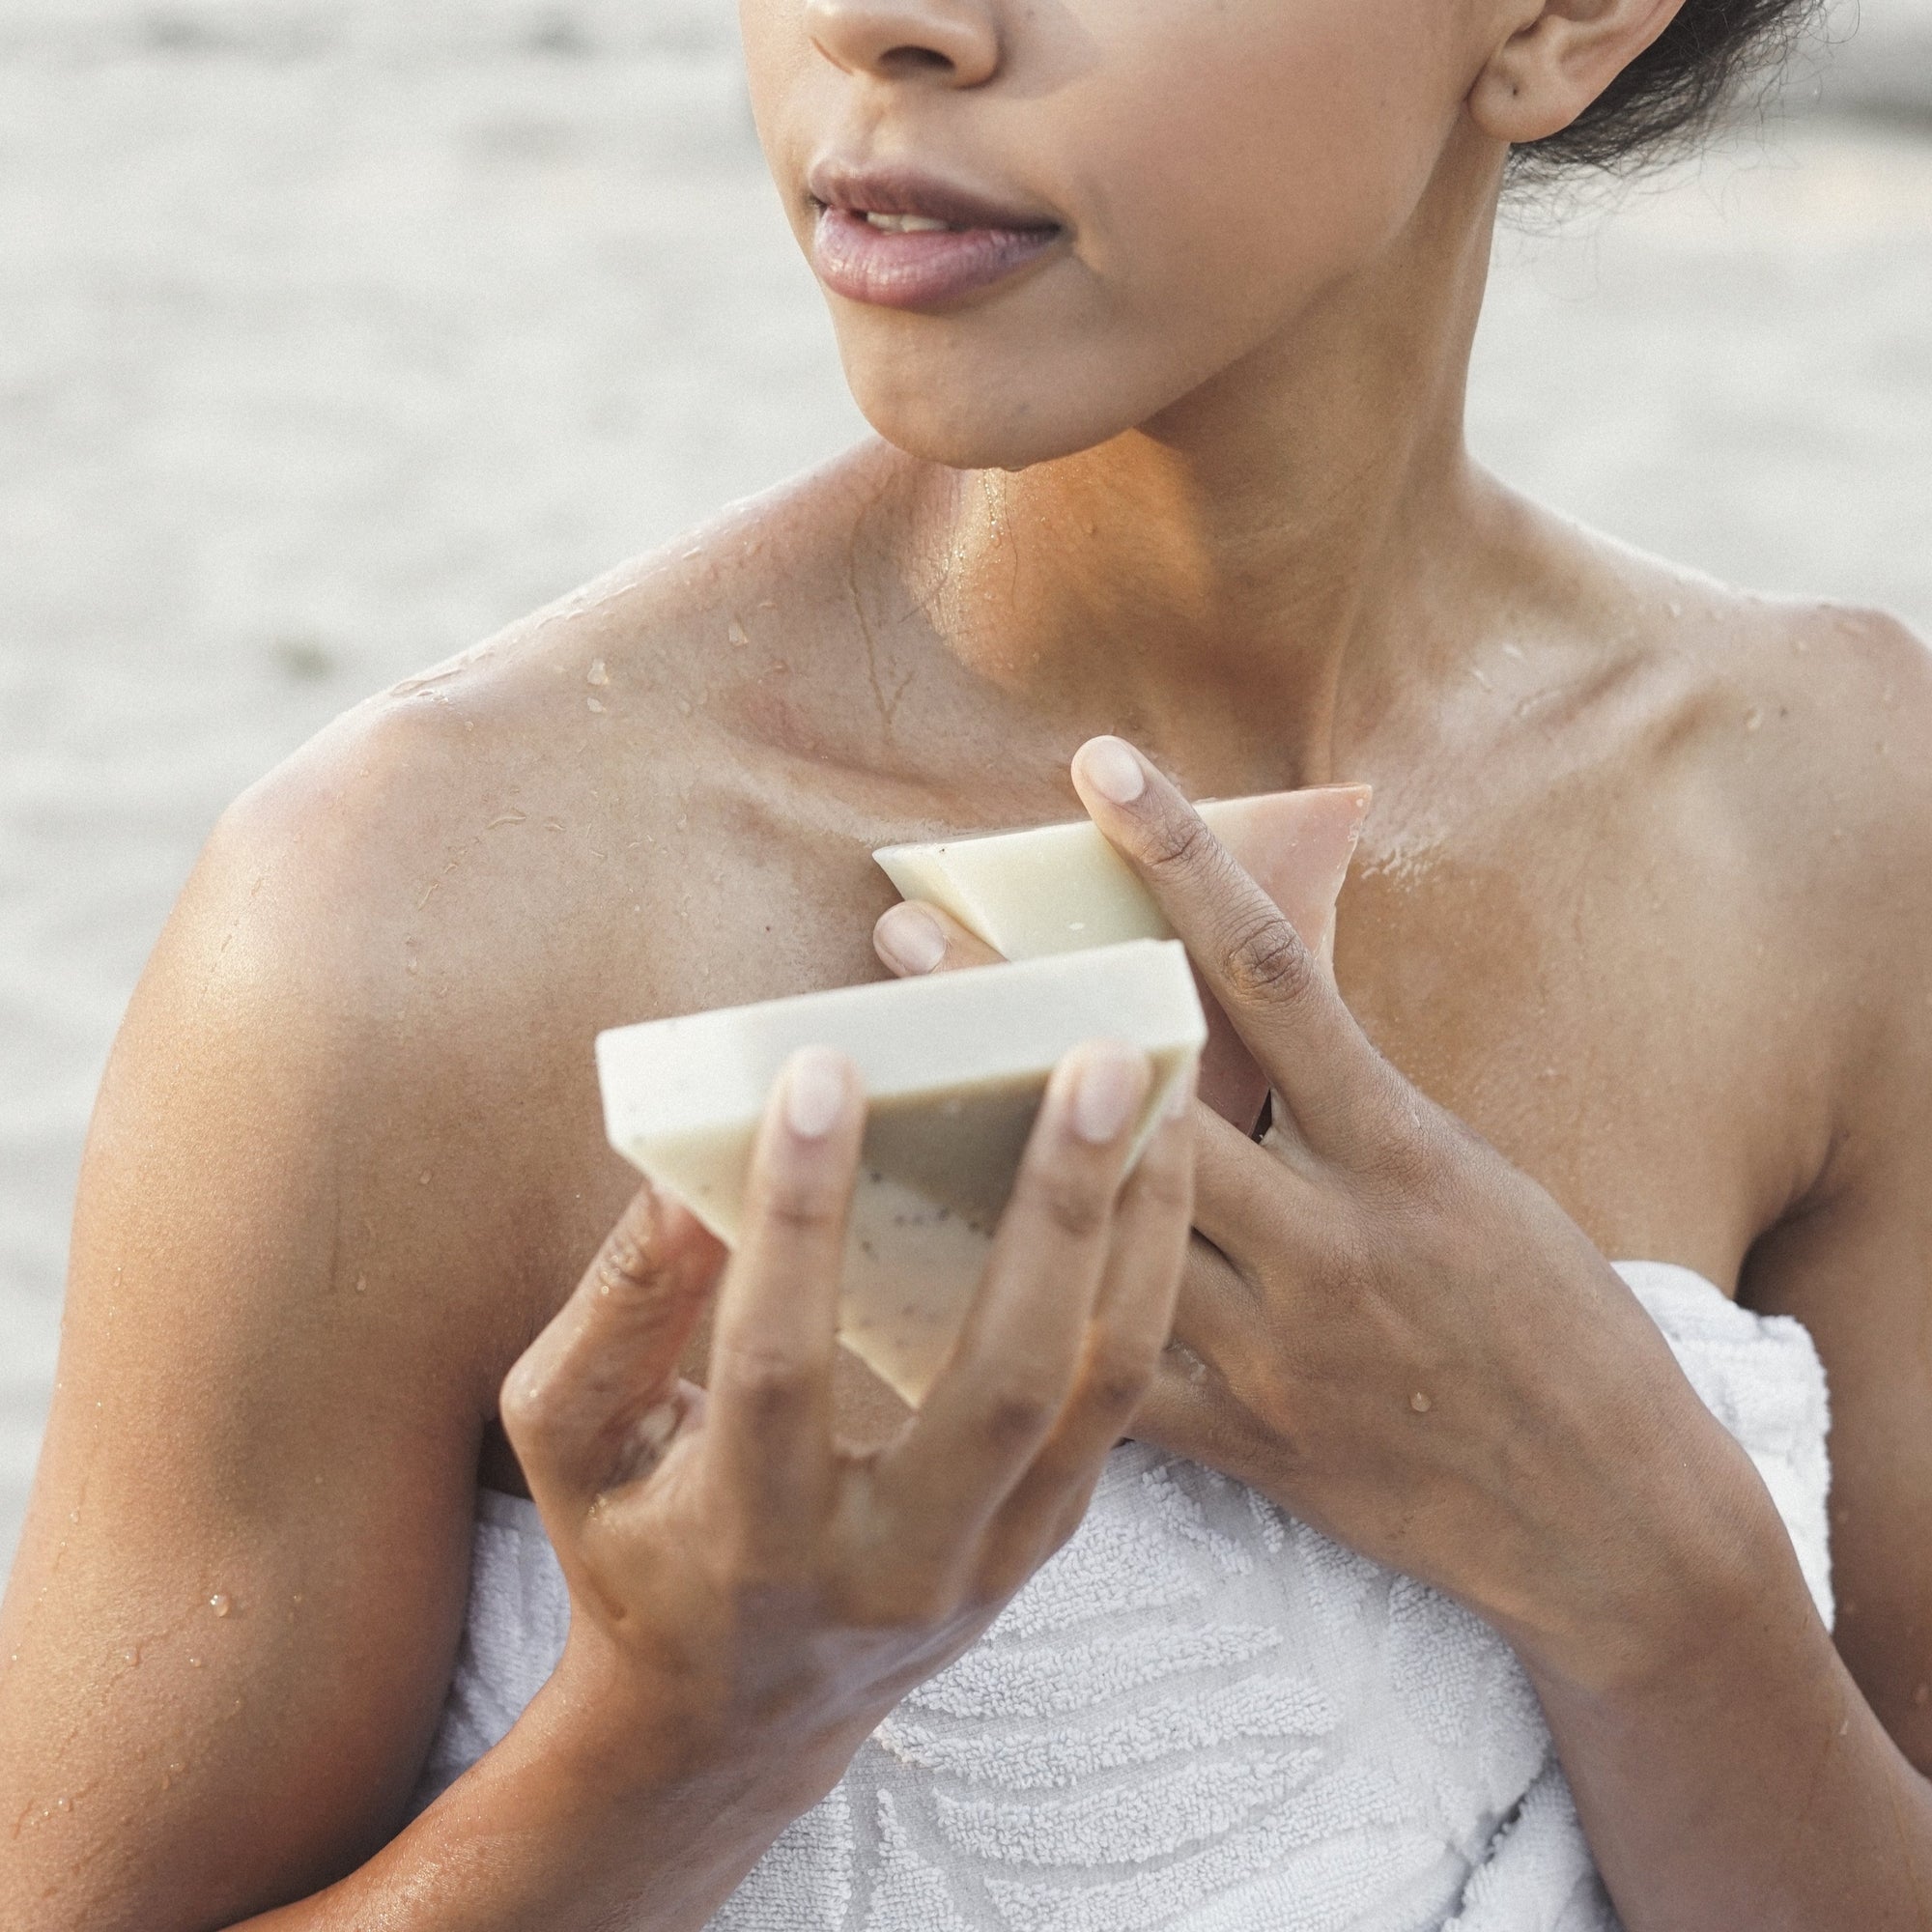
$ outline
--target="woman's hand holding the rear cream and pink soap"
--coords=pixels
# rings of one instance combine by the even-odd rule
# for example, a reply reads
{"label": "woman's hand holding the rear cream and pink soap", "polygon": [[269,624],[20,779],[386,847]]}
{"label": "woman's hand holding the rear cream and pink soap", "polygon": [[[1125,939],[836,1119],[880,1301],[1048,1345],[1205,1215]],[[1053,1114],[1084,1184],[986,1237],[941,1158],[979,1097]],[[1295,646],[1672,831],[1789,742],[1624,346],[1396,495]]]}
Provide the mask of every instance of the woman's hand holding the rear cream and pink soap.
{"label": "woman's hand holding the rear cream and pink soap", "polygon": [[[1273,1090],[1260,1146],[1196,1107],[1196,1236],[1134,1435],[1449,1592],[1532,1669],[1607,1687],[1708,1638],[1768,1501],[1648,1314],[1374,1049],[1151,763],[1095,738],[1072,773]],[[900,972],[997,958],[931,906],[877,943]]]}

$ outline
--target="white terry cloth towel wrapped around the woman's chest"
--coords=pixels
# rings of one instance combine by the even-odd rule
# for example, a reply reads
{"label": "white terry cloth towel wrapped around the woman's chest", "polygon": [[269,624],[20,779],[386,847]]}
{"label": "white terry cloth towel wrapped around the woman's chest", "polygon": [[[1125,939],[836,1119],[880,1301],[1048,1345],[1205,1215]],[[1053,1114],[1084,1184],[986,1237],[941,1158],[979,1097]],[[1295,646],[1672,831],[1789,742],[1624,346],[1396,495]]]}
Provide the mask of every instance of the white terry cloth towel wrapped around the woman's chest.
{"label": "white terry cloth towel wrapped around the woman's chest", "polygon": [[[1619,1264],[1745,1445],[1830,1621],[1810,1337]],[[516,1721],[570,1604],[485,1492],[417,1804]],[[873,1733],[713,1932],[1615,1932],[1509,1646],[1238,1482],[1117,1449],[1074,1538]]]}

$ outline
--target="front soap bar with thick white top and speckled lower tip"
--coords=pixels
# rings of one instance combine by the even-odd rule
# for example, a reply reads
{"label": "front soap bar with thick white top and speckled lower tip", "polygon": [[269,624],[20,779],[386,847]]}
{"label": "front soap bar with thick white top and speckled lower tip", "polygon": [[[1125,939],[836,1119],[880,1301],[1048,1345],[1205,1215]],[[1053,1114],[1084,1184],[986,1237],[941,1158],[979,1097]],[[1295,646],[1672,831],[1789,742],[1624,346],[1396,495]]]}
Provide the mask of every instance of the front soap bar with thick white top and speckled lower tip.
{"label": "front soap bar with thick white top and speckled lower tip", "polygon": [[597,1039],[611,1144],[736,1244],[752,1142],[790,1053],[850,1055],[867,1095],[838,1335],[908,1403],[931,1385],[985,1267],[1047,1076],[1107,1036],[1153,1063],[1138,1159],[1206,1020],[1184,951],[1142,941],[620,1026]]}

